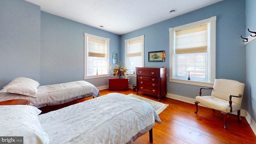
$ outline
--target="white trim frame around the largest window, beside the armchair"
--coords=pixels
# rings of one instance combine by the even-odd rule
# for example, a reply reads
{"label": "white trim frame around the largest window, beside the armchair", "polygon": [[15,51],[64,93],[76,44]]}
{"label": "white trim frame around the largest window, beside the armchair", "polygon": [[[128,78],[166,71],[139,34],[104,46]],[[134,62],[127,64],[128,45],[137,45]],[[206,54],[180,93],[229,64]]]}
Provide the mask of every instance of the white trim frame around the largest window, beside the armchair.
{"label": "white trim frame around the largest window, beside the armchair", "polygon": [[[174,51],[173,51],[173,33],[176,30],[186,29],[186,28],[192,28],[195,26],[208,24],[210,22],[210,82],[199,82],[199,81],[193,81],[193,80],[181,80],[177,78],[173,78],[173,73],[175,71],[173,70],[172,66],[175,65],[174,60]],[[216,78],[216,16],[213,16],[208,19],[200,20],[197,22],[192,22],[190,24],[184,24],[182,26],[177,26],[174,28],[169,28],[169,45],[170,45],[170,78],[169,82],[176,82],[176,83],[182,83],[182,84],[191,84],[196,86],[206,86],[206,87],[212,87],[214,80]]]}

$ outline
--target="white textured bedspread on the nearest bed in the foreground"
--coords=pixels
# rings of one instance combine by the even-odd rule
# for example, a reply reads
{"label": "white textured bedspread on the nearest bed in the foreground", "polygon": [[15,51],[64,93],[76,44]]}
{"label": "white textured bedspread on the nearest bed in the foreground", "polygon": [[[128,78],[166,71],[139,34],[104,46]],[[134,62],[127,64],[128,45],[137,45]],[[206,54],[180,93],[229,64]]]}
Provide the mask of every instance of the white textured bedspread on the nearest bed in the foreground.
{"label": "white textured bedspread on the nearest bed in the foreground", "polygon": [[110,93],[56,111],[38,119],[50,144],[130,143],[161,120],[148,102]]}

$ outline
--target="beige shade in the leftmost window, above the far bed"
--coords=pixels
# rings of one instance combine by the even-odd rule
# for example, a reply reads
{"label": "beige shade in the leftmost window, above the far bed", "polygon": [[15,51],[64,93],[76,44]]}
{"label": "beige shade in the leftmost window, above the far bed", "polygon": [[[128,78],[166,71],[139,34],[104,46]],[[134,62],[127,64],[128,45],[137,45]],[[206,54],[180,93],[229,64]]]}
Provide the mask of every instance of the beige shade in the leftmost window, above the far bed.
{"label": "beige shade in the leftmost window, above the far bed", "polygon": [[106,58],[106,40],[88,38],[88,56]]}

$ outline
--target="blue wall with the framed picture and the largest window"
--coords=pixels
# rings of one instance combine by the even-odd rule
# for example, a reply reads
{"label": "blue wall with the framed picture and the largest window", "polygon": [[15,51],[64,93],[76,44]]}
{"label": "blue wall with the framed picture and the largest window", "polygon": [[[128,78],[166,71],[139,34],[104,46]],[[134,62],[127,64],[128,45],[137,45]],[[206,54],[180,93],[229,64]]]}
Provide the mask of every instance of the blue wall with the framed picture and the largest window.
{"label": "blue wall with the framed picture and the largest window", "polygon": [[[240,38],[245,27],[245,0],[224,0],[216,4],[177,16],[163,22],[141,28],[121,36],[121,53],[124,53],[124,40],[145,35],[145,66],[162,66],[160,62],[148,62],[148,52],[165,50],[168,78],[170,72],[169,28],[217,16],[216,21],[216,78],[238,80],[246,83],[246,49]],[[133,78],[132,78],[133,81]],[[135,81],[135,79],[134,79]],[[178,96],[195,98],[200,86],[167,82],[167,92]],[[246,97],[246,95],[244,95]],[[242,108],[246,109],[246,100]]]}

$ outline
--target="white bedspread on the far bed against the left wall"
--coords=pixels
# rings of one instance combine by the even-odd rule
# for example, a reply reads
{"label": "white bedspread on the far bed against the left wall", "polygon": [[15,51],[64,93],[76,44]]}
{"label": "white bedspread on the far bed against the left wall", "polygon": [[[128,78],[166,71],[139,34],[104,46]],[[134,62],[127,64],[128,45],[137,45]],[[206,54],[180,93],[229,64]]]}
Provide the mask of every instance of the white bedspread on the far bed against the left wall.
{"label": "white bedspread on the far bed against the left wall", "polygon": [[37,89],[37,98],[4,92],[0,93],[0,101],[12,99],[27,99],[30,100],[30,105],[41,108],[44,106],[63,104],[72,100],[85,98],[88,96],[96,97],[100,95],[99,90],[93,84],[90,84],[89,82],[86,82],[84,80],[67,82],[62,84],[38,86]]}

